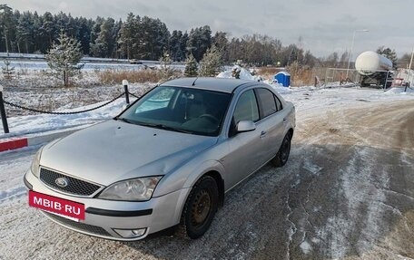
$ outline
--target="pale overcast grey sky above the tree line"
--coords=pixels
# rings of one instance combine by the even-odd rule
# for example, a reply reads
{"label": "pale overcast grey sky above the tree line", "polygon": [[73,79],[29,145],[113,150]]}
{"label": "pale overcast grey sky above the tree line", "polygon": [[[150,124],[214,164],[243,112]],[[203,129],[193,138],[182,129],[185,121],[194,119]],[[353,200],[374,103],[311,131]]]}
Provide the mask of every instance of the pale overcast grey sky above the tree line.
{"label": "pale overcast grey sky above the tree line", "polygon": [[[12,0],[19,11],[60,11],[73,16],[125,17],[128,13],[160,18],[170,31],[210,25],[232,36],[267,34],[283,45],[301,44],[316,56],[350,50],[359,53],[385,45],[400,55],[414,47],[413,0]],[[302,39],[301,43],[299,39]]]}

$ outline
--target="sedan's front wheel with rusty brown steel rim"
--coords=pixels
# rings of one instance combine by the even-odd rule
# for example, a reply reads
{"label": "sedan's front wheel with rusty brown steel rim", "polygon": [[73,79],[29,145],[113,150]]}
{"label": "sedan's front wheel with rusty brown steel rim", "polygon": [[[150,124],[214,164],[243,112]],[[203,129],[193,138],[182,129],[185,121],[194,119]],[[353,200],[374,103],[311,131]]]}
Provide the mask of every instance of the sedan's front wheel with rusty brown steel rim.
{"label": "sedan's front wheel with rusty brown steel rim", "polygon": [[211,176],[203,176],[192,188],[182,210],[182,229],[192,239],[209,229],[219,205],[219,189]]}

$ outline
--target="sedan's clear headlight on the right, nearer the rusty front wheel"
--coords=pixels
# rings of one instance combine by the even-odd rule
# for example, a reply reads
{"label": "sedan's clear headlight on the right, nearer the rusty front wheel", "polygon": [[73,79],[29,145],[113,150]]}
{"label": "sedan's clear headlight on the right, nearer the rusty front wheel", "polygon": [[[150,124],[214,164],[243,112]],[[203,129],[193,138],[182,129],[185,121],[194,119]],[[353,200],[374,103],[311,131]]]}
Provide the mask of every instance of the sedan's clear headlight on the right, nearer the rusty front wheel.
{"label": "sedan's clear headlight on the right, nearer the rusty front wheel", "polygon": [[123,180],[104,189],[99,198],[113,200],[143,201],[153,196],[153,190],[162,176]]}

